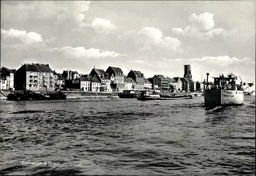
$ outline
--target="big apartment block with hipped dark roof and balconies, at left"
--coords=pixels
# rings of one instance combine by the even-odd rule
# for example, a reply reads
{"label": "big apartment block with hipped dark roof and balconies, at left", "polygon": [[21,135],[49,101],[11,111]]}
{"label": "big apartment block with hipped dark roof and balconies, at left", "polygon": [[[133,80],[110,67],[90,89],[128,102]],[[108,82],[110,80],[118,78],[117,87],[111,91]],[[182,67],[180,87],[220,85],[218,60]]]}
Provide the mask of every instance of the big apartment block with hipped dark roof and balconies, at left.
{"label": "big apartment block with hipped dark roof and balconies, at left", "polygon": [[49,64],[24,64],[14,74],[15,90],[54,90],[53,71]]}

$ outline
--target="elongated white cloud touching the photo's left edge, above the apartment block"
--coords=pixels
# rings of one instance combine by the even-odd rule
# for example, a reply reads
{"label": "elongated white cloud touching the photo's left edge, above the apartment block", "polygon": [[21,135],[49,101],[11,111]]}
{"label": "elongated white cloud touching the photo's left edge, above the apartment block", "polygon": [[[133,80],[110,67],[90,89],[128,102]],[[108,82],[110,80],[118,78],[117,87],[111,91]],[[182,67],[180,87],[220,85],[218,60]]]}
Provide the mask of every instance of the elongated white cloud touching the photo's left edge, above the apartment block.
{"label": "elongated white cloud touching the photo's left edge, above the apartment block", "polygon": [[35,32],[19,31],[15,29],[10,29],[9,31],[1,29],[1,35],[4,38],[16,38],[22,41],[24,44],[38,43],[42,42],[43,39],[40,34]]}

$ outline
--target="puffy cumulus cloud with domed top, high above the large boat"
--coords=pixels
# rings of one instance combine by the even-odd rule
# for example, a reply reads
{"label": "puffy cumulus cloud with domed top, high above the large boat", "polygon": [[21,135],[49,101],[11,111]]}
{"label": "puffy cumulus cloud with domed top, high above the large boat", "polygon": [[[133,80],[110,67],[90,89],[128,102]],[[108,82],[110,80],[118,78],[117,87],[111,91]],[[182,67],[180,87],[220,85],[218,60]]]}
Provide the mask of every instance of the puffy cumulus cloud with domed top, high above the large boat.
{"label": "puffy cumulus cloud with domed top, high above the large boat", "polygon": [[184,37],[195,37],[200,40],[209,40],[215,36],[226,36],[227,31],[222,28],[214,27],[214,15],[208,12],[200,13],[199,15],[193,13],[189,16],[188,21],[191,25],[187,26],[184,30],[182,28],[173,28],[175,34]]}

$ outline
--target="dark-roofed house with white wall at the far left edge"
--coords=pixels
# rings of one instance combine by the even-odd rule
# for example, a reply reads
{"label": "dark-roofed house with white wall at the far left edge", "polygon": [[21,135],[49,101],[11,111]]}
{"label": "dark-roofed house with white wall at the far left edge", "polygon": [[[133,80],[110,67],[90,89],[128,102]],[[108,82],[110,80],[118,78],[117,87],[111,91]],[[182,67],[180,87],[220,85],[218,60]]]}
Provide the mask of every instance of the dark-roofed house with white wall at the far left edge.
{"label": "dark-roofed house with white wall at the far left edge", "polygon": [[[10,70],[6,67],[2,67],[0,71],[1,71],[1,77],[6,78],[5,90],[13,90],[14,89],[14,72],[16,72],[16,70]],[[1,87],[1,89],[2,88],[3,87]]]}

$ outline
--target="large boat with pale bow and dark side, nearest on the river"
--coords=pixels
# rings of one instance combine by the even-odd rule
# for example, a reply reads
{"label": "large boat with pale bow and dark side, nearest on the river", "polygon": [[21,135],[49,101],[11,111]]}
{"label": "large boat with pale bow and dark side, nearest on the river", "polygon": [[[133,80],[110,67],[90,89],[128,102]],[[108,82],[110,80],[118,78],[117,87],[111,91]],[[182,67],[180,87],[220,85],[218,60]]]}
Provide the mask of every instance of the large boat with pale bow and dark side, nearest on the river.
{"label": "large boat with pale bow and dark side, nearest on the river", "polygon": [[[204,104],[206,107],[217,106],[241,106],[244,103],[244,90],[240,77],[230,73],[227,77],[223,74],[214,78],[214,84],[208,82],[207,75],[206,90],[204,91]],[[237,84],[237,81],[240,84]]]}

